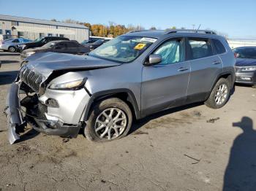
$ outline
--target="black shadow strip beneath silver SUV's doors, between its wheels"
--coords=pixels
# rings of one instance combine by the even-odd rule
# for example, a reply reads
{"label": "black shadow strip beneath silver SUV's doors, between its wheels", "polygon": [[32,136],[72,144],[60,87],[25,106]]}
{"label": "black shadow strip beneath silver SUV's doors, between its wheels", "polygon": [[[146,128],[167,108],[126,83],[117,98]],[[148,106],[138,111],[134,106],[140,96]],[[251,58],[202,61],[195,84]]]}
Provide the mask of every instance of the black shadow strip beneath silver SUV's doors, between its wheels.
{"label": "black shadow strip beneath silver SUV's doors, between its wheels", "polygon": [[148,115],[147,117],[145,117],[141,120],[134,120],[132,128],[129,131],[129,134],[134,133],[136,130],[143,127],[143,125],[146,125],[146,123],[150,122],[151,120],[157,119],[159,117],[163,117],[167,114],[172,114],[172,113],[175,113],[175,112],[181,112],[183,110],[190,109],[192,107],[200,106],[200,105],[203,105],[203,102],[199,102],[199,103],[195,103],[195,104],[189,104],[189,105],[185,105],[185,106],[178,106],[178,107],[171,108],[171,109],[165,109],[161,112],[157,112],[157,113]]}

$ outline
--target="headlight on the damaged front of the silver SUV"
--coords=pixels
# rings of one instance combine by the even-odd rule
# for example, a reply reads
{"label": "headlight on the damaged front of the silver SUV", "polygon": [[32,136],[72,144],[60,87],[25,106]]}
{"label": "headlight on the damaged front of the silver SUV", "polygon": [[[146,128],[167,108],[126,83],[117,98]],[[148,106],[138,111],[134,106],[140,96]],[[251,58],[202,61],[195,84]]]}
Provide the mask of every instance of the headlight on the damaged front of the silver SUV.
{"label": "headlight on the damaged front of the silver SUV", "polygon": [[78,79],[72,82],[66,82],[62,84],[52,84],[50,89],[53,90],[78,90],[86,83],[86,79]]}

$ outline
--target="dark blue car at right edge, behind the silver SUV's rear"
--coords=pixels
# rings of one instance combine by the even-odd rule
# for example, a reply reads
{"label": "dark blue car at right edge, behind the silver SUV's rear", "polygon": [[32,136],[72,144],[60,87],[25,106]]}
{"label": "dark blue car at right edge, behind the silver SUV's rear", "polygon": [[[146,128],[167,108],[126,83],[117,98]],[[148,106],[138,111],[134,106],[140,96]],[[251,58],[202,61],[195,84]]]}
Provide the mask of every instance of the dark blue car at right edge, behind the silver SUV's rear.
{"label": "dark blue car at right edge, behind the silver SUV's rear", "polygon": [[256,47],[237,47],[233,52],[236,55],[236,82],[256,88]]}

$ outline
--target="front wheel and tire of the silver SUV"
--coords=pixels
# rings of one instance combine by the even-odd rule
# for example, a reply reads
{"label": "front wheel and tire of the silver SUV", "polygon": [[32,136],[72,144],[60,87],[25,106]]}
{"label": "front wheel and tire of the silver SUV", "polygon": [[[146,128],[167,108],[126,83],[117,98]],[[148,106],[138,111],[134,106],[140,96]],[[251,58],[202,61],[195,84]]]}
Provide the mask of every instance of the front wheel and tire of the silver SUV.
{"label": "front wheel and tire of the silver SUV", "polygon": [[132,126],[132,112],[119,98],[108,98],[92,109],[84,128],[90,141],[112,141],[127,136]]}

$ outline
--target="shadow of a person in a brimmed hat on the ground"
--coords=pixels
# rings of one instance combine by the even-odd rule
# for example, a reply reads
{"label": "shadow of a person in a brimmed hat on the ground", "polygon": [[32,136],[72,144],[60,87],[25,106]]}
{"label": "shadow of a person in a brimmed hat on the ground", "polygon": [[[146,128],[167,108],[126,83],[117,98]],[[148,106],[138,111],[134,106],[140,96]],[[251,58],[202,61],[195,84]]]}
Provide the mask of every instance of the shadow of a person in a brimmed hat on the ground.
{"label": "shadow of a person in a brimmed hat on the ground", "polygon": [[256,188],[256,130],[252,119],[243,117],[233,122],[243,130],[233,142],[224,176],[223,191],[255,190]]}

